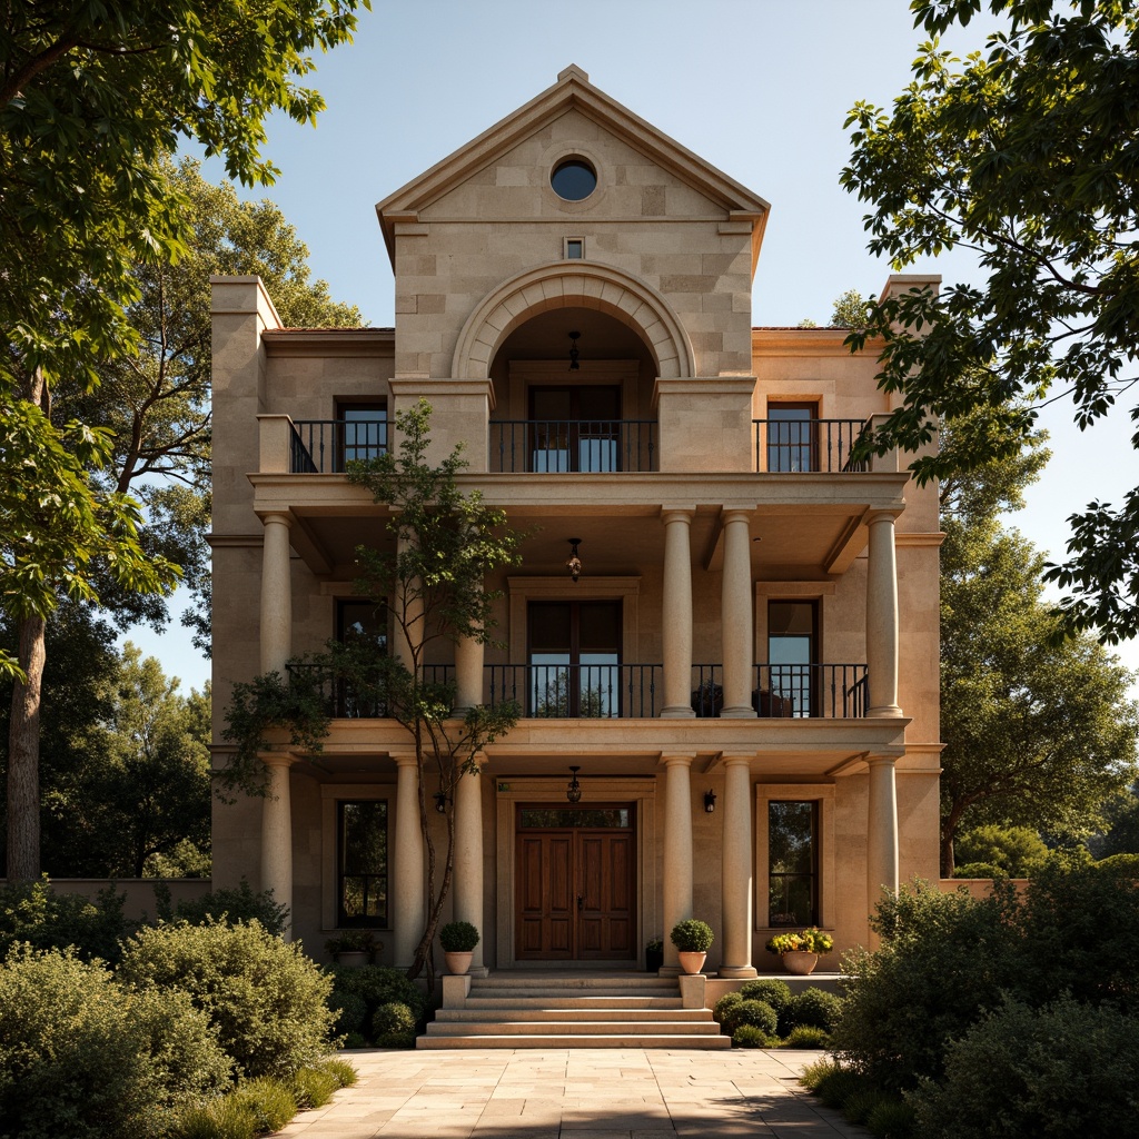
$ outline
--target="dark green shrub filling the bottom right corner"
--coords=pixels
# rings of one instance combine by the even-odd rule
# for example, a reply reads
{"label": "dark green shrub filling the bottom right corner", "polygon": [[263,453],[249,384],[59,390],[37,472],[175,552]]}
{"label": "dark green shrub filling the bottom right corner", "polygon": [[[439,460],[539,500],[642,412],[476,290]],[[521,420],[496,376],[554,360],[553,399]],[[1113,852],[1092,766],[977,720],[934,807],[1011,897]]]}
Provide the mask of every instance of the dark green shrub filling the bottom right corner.
{"label": "dark green shrub filling the bottom right corner", "polygon": [[950,1042],[941,1083],[912,1097],[916,1131],[923,1139],[1122,1134],[1139,1115],[1137,1071],[1139,1018],[1070,998],[1042,1009],[1007,1001]]}

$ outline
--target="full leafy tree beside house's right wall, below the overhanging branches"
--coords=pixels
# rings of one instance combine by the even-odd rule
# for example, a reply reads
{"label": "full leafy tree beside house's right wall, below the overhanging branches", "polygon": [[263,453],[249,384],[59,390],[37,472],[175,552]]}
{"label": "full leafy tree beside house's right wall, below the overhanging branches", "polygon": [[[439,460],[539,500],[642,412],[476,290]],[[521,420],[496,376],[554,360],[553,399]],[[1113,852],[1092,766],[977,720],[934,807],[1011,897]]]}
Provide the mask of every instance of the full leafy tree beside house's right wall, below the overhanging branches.
{"label": "full leafy tree beside house's right wall, below the overhanging branches", "polygon": [[1131,674],[1090,634],[1057,637],[1043,558],[992,519],[943,523],[942,876],[967,825],[1088,829],[1134,778]]}

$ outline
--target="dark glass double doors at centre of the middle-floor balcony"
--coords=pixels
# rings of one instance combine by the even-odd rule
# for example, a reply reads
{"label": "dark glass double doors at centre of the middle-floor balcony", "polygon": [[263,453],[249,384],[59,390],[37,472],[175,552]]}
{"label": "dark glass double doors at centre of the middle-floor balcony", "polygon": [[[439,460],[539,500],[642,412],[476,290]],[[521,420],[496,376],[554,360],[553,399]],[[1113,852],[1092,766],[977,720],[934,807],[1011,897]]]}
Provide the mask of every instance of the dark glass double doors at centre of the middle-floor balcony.
{"label": "dark glass double doors at centre of the middle-floor balcony", "polygon": [[528,714],[621,715],[621,603],[531,601]]}

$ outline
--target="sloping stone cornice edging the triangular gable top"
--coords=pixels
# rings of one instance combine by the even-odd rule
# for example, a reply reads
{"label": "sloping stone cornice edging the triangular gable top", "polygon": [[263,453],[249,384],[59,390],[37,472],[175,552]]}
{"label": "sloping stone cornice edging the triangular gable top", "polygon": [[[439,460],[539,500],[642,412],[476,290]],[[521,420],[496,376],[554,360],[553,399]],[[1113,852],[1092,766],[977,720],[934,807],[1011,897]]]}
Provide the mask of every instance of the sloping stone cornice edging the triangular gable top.
{"label": "sloping stone cornice edging the triangular gable top", "polygon": [[461,187],[484,177],[527,142],[541,139],[558,124],[564,129],[566,123],[582,120],[658,166],[694,197],[722,211],[724,221],[749,223],[759,252],[769,210],[763,198],[593,87],[580,67],[570,66],[552,87],[377,204],[393,260],[398,223],[426,220],[423,215],[432,207],[449,197],[456,199]]}

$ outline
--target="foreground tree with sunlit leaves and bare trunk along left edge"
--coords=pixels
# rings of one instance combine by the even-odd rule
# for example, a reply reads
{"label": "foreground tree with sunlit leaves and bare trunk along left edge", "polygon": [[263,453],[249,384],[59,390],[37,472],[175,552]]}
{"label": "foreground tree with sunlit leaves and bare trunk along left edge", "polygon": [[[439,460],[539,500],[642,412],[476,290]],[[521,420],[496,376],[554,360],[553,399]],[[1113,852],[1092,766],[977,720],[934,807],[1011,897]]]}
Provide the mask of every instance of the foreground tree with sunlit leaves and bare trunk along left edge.
{"label": "foreground tree with sunlit leaves and bare trunk along left edge", "polygon": [[39,718],[44,617],[62,595],[95,601],[99,574],[169,590],[173,566],[138,541],[137,507],[88,473],[110,441],[50,418],[63,377],[98,382],[129,357],[133,268],[183,252],[185,196],[161,159],[181,138],[223,154],[231,177],[271,181],[264,120],[312,121],[294,76],[349,39],[367,0],[8,5],[0,14],[0,597],[21,622],[8,754],[8,874],[39,870]]}

